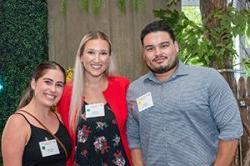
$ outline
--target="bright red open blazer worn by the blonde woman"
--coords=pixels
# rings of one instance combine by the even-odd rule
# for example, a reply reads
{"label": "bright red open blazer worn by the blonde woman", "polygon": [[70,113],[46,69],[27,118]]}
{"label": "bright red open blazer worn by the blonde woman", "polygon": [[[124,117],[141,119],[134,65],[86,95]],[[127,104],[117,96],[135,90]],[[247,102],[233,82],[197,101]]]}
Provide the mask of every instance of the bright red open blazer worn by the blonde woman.
{"label": "bright red open blazer worn by the blonde woman", "polygon": [[[131,163],[130,151],[128,148],[128,140],[126,135],[126,121],[128,116],[127,102],[126,102],[126,92],[129,85],[129,80],[124,77],[108,77],[108,88],[103,92],[106,101],[109,103],[111,110],[113,111],[118,128],[120,131],[120,136],[122,139],[123,147],[125,149],[126,155]],[[61,114],[62,120],[69,130],[69,107],[70,99],[72,93],[72,83],[67,83],[64,88],[61,100],[57,105],[57,111]],[[71,134],[71,139],[73,141],[73,147],[76,145],[75,133]],[[74,149],[71,153],[70,160],[67,162],[68,166],[72,166],[74,159]]]}

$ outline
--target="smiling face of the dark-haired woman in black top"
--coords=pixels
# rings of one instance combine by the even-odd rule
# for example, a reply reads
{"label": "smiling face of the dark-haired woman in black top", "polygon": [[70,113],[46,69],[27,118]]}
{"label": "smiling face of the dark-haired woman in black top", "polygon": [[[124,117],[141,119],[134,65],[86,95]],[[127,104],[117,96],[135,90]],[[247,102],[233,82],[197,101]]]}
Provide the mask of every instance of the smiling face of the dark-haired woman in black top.
{"label": "smiling face of the dark-haired woman in black top", "polygon": [[60,100],[64,88],[64,75],[59,69],[48,69],[38,80],[32,79],[33,98],[46,107],[54,106]]}

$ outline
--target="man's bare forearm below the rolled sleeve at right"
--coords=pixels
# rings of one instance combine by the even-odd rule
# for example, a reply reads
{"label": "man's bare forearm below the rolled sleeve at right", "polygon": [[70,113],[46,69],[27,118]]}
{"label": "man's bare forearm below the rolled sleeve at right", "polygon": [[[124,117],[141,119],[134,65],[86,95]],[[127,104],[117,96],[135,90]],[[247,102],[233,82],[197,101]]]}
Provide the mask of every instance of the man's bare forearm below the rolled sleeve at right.
{"label": "man's bare forearm below the rolled sleeve at right", "polygon": [[220,140],[214,166],[230,166],[233,161],[237,145],[238,140]]}

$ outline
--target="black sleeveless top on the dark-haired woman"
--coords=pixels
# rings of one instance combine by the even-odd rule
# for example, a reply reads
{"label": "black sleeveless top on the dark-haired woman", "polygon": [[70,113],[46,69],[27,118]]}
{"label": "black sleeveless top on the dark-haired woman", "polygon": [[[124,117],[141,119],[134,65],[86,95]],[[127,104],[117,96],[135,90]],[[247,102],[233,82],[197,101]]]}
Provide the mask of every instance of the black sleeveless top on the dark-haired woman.
{"label": "black sleeveless top on the dark-haired woman", "polygon": [[[65,166],[66,160],[67,160],[66,155],[65,155],[63,148],[58,142],[57,142],[57,146],[59,148],[59,152],[60,152],[59,154],[42,157],[39,142],[52,140],[55,138],[47,130],[32,125],[23,114],[20,114],[20,113],[18,114],[22,115],[25,118],[25,120],[29,123],[30,128],[31,128],[31,136],[23,152],[22,165],[23,166]],[[59,122],[60,122],[60,125],[55,135],[60,139],[60,141],[65,146],[68,155],[70,155],[72,142],[67,132],[67,129],[61,123],[60,120]]]}

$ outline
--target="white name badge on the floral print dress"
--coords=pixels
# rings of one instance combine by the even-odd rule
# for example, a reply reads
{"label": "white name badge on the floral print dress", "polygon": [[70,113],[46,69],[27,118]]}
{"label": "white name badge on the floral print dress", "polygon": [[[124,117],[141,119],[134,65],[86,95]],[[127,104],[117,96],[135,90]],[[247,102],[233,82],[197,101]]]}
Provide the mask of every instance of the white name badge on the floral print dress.
{"label": "white name badge on the floral print dress", "polygon": [[86,118],[105,116],[104,103],[85,105]]}

